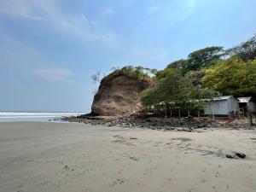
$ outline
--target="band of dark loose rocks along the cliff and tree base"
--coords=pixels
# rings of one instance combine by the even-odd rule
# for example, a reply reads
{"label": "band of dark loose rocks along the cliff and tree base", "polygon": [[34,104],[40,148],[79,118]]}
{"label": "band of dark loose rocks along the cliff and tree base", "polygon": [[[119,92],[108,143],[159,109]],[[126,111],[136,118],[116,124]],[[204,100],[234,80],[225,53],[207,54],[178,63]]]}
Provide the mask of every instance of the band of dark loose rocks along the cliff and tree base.
{"label": "band of dark loose rocks along the cliff and tree base", "polygon": [[81,115],[73,117],[61,118],[61,121],[78,122],[90,125],[119,126],[122,128],[144,128],[152,130],[166,131],[194,131],[196,129],[209,128],[232,128],[232,129],[254,129],[255,126],[249,126],[247,122],[237,122],[235,120],[229,122],[218,122],[209,117],[193,118],[193,117],[153,117],[148,115],[131,115],[125,117],[95,117],[90,115]]}

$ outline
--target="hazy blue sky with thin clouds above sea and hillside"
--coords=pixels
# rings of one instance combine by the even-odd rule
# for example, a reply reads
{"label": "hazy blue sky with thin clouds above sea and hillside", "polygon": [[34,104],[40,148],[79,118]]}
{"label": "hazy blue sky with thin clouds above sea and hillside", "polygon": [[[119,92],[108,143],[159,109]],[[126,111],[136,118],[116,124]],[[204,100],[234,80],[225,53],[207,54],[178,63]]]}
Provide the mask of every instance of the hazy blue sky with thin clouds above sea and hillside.
{"label": "hazy blue sky with thin clouds above sea and hillside", "polygon": [[0,0],[0,111],[90,112],[112,67],[163,69],[256,33],[255,0]]}

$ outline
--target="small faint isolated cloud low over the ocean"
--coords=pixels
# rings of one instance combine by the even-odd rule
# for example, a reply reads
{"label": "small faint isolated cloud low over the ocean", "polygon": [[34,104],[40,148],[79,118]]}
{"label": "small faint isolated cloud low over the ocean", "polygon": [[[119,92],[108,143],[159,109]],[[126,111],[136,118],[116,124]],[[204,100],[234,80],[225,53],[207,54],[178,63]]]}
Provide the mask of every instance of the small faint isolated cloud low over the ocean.
{"label": "small faint isolated cloud low over the ocean", "polygon": [[41,79],[47,81],[64,81],[73,76],[69,69],[55,68],[55,69],[32,69],[32,73]]}

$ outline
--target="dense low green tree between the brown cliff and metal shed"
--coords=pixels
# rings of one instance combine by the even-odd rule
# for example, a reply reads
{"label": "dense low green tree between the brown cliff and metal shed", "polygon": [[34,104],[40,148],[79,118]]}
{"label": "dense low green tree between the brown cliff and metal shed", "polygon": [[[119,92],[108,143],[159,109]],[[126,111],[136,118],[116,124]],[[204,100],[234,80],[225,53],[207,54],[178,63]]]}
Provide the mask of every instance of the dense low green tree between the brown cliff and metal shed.
{"label": "dense low green tree between the brown cliff and metal shed", "polygon": [[[170,68],[169,68],[170,69]],[[143,91],[141,101],[145,108],[179,108],[181,110],[198,109],[206,99],[216,96],[216,92],[193,86],[177,69],[168,70],[149,90]]]}

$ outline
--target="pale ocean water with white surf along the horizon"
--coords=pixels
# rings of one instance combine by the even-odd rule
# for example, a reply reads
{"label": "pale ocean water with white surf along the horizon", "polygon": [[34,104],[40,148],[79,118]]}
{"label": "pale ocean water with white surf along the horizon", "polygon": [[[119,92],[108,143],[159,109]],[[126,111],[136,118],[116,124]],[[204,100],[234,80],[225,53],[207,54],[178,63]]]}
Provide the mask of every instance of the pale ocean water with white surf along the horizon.
{"label": "pale ocean water with white surf along the horizon", "polygon": [[80,114],[83,113],[0,112],[0,122],[51,121],[63,116],[76,116]]}

